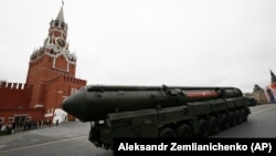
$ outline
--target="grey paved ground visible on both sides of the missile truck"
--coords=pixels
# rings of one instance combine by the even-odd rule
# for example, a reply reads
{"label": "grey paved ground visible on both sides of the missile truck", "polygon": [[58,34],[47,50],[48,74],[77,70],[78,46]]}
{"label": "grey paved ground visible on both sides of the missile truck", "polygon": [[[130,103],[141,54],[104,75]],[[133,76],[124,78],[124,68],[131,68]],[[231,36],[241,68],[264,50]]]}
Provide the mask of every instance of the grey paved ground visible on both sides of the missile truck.
{"label": "grey paved ground visible on both sides of the missile truck", "polygon": [[[246,123],[211,137],[275,137],[276,104],[251,107]],[[112,156],[113,152],[88,142],[89,123],[68,122],[59,126],[0,136],[0,156]]]}

